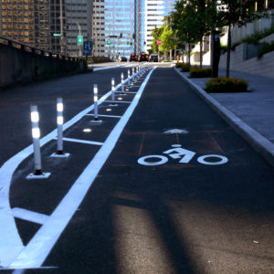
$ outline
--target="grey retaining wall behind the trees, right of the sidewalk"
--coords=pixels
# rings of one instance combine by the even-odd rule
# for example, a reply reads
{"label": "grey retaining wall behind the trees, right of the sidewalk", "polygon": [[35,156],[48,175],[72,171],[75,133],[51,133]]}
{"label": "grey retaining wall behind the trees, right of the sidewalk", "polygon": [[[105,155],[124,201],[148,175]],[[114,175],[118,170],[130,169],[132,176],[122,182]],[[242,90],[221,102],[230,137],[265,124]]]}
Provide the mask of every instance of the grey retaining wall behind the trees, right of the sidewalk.
{"label": "grey retaining wall behind the trees, right of the sidewalk", "polygon": [[[231,51],[230,69],[274,78],[274,51],[265,54],[260,59],[245,59],[246,47],[246,44],[240,44],[234,51]],[[219,67],[227,68],[227,53],[221,56]]]}

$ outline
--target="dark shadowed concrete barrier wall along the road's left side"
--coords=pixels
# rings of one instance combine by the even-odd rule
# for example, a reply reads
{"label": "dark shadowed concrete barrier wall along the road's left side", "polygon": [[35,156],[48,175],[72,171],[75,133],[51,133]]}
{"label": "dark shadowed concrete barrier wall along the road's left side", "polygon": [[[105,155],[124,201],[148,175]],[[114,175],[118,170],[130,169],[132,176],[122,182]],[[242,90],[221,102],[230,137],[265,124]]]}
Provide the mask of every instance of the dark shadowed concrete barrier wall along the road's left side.
{"label": "dark shadowed concrete barrier wall along the road's left side", "polygon": [[61,57],[12,41],[5,42],[0,43],[0,88],[87,71],[83,59]]}

